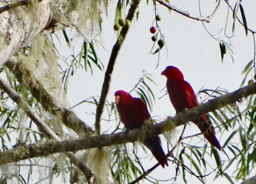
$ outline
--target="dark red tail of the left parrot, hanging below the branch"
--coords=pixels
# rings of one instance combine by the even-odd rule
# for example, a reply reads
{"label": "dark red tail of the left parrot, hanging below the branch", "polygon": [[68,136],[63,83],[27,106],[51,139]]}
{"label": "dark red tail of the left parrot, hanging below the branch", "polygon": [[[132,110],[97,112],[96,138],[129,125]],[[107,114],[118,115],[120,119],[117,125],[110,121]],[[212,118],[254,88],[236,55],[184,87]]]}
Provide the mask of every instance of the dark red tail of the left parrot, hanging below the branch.
{"label": "dark red tail of the left parrot, hanging below the branch", "polygon": [[168,166],[167,157],[162,150],[159,136],[154,136],[144,141],[145,146],[152,152],[155,159],[159,162],[162,168],[165,168],[165,165]]}

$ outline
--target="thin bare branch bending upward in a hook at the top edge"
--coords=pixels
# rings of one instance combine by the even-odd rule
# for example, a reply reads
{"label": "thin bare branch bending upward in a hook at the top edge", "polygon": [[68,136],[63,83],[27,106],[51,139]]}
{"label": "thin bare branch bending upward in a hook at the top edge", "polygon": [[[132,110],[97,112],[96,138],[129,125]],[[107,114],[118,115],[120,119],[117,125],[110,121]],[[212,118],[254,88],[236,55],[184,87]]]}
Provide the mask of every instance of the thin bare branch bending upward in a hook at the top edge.
{"label": "thin bare branch bending upward in a hook at the top edge", "polygon": [[217,12],[217,10],[219,9],[220,7],[220,0],[216,6],[216,8],[214,9],[213,13],[210,15],[210,16],[207,16],[207,17],[203,17],[203,16],[196,16],[196,15],[192,15],[191,13],[187,12],[187,11],[184,11],[184,10],[181,10],[177,7],[175,7],[174,5],[170,5],[170,4],[166,4],[164,1],[162,0],[153,0],[153,1],[156,1],[158,2],[159,4],[161,5],[164,5],[165,7],[169,8],[170,10],[173,10],[177,13],[180,13],[184,16],[187,16],[189,18],[192,18],[192,19],[195,19],[195,20],[200,20],[200,21],[206,21],[206,22],[210,22],[211,19],[213,18],[213,16],[215,15],[215,13]]}

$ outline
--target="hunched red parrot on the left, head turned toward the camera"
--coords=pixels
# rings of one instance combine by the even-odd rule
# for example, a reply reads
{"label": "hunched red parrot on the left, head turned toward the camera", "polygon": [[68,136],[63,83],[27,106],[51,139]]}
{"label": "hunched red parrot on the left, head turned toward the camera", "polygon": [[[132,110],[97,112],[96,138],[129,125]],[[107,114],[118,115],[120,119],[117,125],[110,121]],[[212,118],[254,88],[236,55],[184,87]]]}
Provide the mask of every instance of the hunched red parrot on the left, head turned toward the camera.
{"label": "hunched red parrot on the left, head turned toward the camera", "polygon": [[[147,105],[142,99],[133,98],[126,91],[118,90],[114,94],[115,104],[120,114],[120,119],[127,130],[140,128],[145,121],[152,123]],[[143,144],[150,149],[159,164],[165,168],[168,166],[164,150],[162,150],[159,136],[153,136],[144,140]]]}

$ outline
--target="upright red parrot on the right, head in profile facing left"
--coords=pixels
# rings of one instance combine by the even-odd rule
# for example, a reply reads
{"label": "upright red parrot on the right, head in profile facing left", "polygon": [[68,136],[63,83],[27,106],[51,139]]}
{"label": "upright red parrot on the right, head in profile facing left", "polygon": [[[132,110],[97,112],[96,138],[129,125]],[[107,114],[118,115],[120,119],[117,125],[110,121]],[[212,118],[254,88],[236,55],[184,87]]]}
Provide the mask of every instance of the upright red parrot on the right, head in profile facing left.
{"label": "upright red parrot on the right, head in profile facing left", "polygon": [[[166,70],[162,71],[161,75],[167,78],[167,91],[176,113],[183,111],[185,108],[191,109],[200,105],[190,83],[184,80],[182,73],[177,67],[167,66]],[[220,143],[215,136],[211,122],[207,121],[203,115],[192,122],[198,126],[208,142],[221,150]]]}

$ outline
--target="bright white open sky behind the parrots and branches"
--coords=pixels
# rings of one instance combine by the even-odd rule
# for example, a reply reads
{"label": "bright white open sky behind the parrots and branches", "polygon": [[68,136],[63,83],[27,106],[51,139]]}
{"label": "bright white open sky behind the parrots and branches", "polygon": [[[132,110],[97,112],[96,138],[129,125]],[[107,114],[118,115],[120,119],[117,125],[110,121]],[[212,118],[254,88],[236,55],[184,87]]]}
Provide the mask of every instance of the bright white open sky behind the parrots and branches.
{"label": "bright white open sky behind the parrots and branches", "polygon": [[[111,49],[117,36],[113,30],[114,13],[117,1],[112,1],[109,5],[108,17],[104,18],[102,25],[102,35],[99,38],[103,43],[106,50],[99,47],[97,53],[105,68],[111,53]],[[157,4],[159,14],[162,20],[159,21],[159,26],[162,33],[165,36],[165,41],[168,48],[168,57],[166,48],[163,48],[160,53],[160,63],[158,68],[155,69],[157,64],[158,55],[149,54],[152,41],[152,34],[149,32],[152,26],[152,20],[154,18],[154,11],[152,2],[149,1],[149,6],[146,5],[146,1],[142,1],[139,7],[138,21],[133,21],[131,29],[128,33],[123,47],[119,53],[116,61],[114,72],[112,75],[112,82],[107,100],[114,101],[114,92],[120,89],[129,91],[140,77],[142,77],[142,70],[146,70],[152,74],[153,80],[157,83],[157,86],[151,85],[153,93],[156,97],[156,102],[153,106],[151,116],[159,116],[161,119],[165,119],[167,116],[174,116],[175,110],[172,107],[169,97],[157,99],[164,95],[164,92],[160,93],[160,90],[166,85],[166,78],[160,76],[162,70],[168,65],[174,65],[180,68],[184,75],[185,80],[190,82],[193,86],[195,93],[197,93],[202,87],[207,89],[215,89],[216,87],[222,87],[229,91],[238,89],[243,79],[241,72],[244,66],[253,59],[253,39],[252,35],[248,34],[245,37],[245,31],[239,24],[236,25],[235,36],[231,39],[231,43],[234,46],[234,63],[232,63],[231,57],[226,54],[224,56],[223,63],[221,62],[221,55],[219,49],[219,42],[214,40],[203,28],[200,21],[192,20],[175,12],[171,14],[165,7],[161,7]],[[210,15],[215,7],[215,2],[202,1],[201,4],[203,15]],[[234,1],[235,2],[235,1]],[[231,5],[234,7],[234,2]],[[171,3],[183,10],[187,10],[190,13],[198,15],[198,1],[180,1],[173,0]],[[256,30],[254,8],[256,7],[255,1],[242,2],[247,18],[247,25],[250,29]],[[211,24],[207,24],[208,31],[216,35],[220,31],[220,34],[216,37],[225,39],[223,37],[223,25],[226,21],[227,8],[224,1],[221,2],[221,8],[215,15]],[[240,16],[240,14],[239,14]],[[231,17],[229,17],[231,18]],[[228,35],[231,35],[231,26],[227,29]],[[76,43],[75,52],[78,53],[81,49],[83,40],[81,38],[73,38]],[[68,56],[70,53],[67,51],[67,45],[62,44],[60,48],[63,51],[63,55]],[[104,72],[99,71],[94,67],[94,75],[85,73],[83,70],[75,73],[74,77],[69,80],[69,87],[67,92],[67,99],[71,106],[81,102],[82,100],[94,96],[100,95],[102,82],[104,79]],[[249,76],[250,78],[251,76]],[[137,97],[136,93],[132,93],[134,97]],[[95,112],[95,106],[82,104],[74,109],[77,115],[84,120],[87,124],[93,126],[95,116],[90,116],[86,112]],[[109,127],[114,128],[115,123],[102,122],[102,131],[107,130]],[[193,128],[192,128],[193,127]],[[177,128],[179,130],[179,128]],[[195,125],[190,125],[187,128],[187,133],[190,131],[193,133],[199,132]],[[179,136],[177,131],[176,136]],[[217,134],[220,143],[223,144],[225,139],[220,139],[220,135]],[[175,143],[175,139],[172,141]],[[164,139],[162,139],[164,140]],[[163,144],[165,152],[167,152],[166,144]],[[155,159],[152,162],[148,162],[148,159],[143,159],[142,163],[145,169],[149,169],[155,164]],[[215,165],[215,162],[213,163]],[[169,163],[169,165],[172,165]],[[165,170],[157,168],[151,176],[159,179],[169,179],[174,176],[173,167],[168,167]],[[170,173],[170,174],[169,174]],[[231,174],[231,173],[229,173]],[[189,176],[189,175],[187,175]],[[190,176],[187,178],[190,179]],[[195,177],[191,177],[193,183],[199,183]],[[192,183],[189,180],[189,183]],[[213,180],[210,176],[208,183],[217,183],[228,181],[225,178],[219,178]],[[181,180],[183,182],[183,180]],[[149,183],[144,180],[143,183]],[[160,182],[161,183],[161,182]],[[169,182],[163,182],[169,183]],[[177,183],[181,183],[177,181]],[[206,181],[207,183],[207,181]],[[240,182],[239,182],[240,183]]]}

